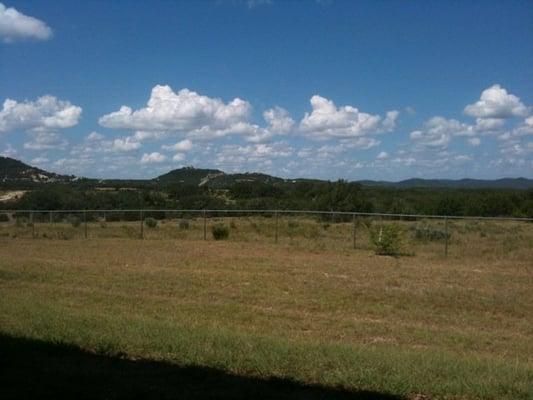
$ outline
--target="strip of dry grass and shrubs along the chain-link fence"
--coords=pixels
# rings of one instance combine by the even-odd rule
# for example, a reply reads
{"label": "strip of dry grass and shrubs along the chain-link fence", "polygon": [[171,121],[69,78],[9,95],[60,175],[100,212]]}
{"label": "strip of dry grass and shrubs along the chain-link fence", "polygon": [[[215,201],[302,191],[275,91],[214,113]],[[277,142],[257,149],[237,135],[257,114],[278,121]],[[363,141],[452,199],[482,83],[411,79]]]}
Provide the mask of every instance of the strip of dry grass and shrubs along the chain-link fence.
{"label": "strip of dry grass and shrubs along the chain-link fence", "polygon": [[[507,252],[533,246],[533,218],[464,217],[301,210],[3,210],[4,238],[138,238],[282,241],[311,248],[373,249],[448,255],[500,242]],[[421,247],[422,246],[422,247]],[[438,249],[441,250],[438,250]]]}

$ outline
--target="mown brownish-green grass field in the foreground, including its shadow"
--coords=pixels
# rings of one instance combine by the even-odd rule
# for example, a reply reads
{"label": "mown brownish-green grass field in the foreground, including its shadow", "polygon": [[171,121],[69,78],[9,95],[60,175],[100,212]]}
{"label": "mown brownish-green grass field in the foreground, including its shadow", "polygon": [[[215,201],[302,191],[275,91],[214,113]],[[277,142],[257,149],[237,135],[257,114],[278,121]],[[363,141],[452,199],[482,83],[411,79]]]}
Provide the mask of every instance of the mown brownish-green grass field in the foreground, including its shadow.
{"label": "mown brownish-green grass field in the foreground, including its shadow", "polygon": [[533,399],[532,224],[455,222],[447,258],[412,235],[376,256],[362,226],[354,251],[349,223],[284,220],[276,245],[272,224],[4,224],[7,398]]}

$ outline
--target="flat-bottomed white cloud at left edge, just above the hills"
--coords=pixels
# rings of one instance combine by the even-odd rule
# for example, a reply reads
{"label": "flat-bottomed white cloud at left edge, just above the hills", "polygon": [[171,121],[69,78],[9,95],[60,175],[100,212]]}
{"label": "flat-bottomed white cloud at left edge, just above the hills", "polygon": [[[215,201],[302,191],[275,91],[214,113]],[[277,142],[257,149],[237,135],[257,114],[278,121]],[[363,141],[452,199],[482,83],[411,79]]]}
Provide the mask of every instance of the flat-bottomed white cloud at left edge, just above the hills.
{"label": "flat-bottomed white cloud at left edge, just above the hills", "polygon": [[0,111],[0,132],[71,128],[81,113],[81,107],[54,96],[23,102],[6,99]]}

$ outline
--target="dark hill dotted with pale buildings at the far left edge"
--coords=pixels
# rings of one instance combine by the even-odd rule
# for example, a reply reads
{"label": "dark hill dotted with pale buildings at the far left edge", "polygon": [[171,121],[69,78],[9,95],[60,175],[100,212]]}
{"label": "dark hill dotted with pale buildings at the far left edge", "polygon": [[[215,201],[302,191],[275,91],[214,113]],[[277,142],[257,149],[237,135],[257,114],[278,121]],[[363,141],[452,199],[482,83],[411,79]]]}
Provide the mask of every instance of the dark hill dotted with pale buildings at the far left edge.
{"label": "dark hill dotted with pale buildings at the far left edge", "polygon": [[0,156],[0,183],[54,183],[77,180],[73,175],[59,175],[32,167],[22,161]]}

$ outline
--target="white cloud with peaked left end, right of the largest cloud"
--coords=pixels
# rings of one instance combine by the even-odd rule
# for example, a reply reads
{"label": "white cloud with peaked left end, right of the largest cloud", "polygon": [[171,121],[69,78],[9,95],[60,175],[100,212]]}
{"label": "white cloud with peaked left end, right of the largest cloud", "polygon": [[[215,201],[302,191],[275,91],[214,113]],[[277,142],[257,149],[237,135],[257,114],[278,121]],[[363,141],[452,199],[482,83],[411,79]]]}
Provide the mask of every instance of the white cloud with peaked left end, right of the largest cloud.
{"label": "white cloud with peaked left end, right of the largest cloud", "polygon": [[305,114],[299,128],[305,136],[313,139],[350,139],[390,132],[399,115],[398,111],[389,111],[383,118],[352,106],[337,107],[333,101],[319,95],[311,97],[310,102],[313,110]]}

